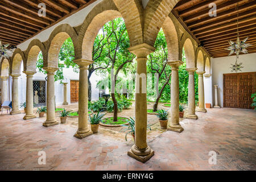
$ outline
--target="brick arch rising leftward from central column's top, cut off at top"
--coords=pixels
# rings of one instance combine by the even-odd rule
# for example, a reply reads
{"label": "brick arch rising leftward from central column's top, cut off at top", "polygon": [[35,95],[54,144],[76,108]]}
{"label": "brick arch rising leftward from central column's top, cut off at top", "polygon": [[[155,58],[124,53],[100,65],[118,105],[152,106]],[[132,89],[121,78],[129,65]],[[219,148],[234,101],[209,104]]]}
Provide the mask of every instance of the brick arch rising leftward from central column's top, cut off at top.
{"label": "brick arch rising leftward from central column's top, cut off at top", "polygon": [[113,1],[118,11],[121,13],[122,18],[125,20],[125,26],[130,39],[130,47],[142,44],[144,42],[143,40],[144,10],[143,10],[141,1],[139,0],[106,0],[106,1],[108,1],[108,3],[109,1]]}

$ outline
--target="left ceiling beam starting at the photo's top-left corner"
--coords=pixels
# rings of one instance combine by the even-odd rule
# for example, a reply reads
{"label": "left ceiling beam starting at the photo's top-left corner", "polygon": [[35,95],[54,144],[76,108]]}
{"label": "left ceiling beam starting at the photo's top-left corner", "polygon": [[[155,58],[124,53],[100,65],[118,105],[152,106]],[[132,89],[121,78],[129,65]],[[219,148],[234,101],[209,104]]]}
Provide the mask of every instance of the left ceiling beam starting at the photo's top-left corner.
{"label": "left ceiling beam starting at the photo's top-left corner", "polygon": [[[16,6],[18,7],[19,9],[22,9],[24,11],[27,11],[29,13],[32,13],[36,16],[38,16],[38,10],[39,9],[35,9],[34,7],[32,7],[31,5],[28,6],[26,3],[24,2],[19,2],[19,1],[14,1],[14,0],[3,0],[5,1],[6,3],[9,3],[11,6]],[[49,21],[51,22],[55,22],[57,19],[49,14],[46,14],[46,16],[43,16],[42,18],[44,19],[48,19]]]}

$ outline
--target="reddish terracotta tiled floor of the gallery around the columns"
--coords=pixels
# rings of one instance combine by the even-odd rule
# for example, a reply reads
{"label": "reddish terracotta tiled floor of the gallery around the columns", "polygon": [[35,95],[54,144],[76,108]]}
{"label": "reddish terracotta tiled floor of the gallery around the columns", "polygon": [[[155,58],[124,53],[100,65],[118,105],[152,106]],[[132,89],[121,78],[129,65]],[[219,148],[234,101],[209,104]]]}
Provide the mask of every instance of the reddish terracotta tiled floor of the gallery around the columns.
{"label": "reddish terracotta tiled floor of the gallery around the columns", "polygon": [[[100,133],[80,140],[73,137],[77,127],[68,123],[46,128],[42,126],[44,119],[23,121],[23,114],[0,115],[0,169],[256,169],[256,111],[208,109],[208,113],[197,114],[197,121],[181,121],[184,131],[180,134],[156,131],[157,123],[148,134],[148,145],[155,155],[144,164],[127,156],[133,142],[131,138],[125,142],[118,131],[102,128]],[[208,163],[212,150],[218,152],[216,165]],[[38,151],[46,152],[46,165],[38,164]]]}

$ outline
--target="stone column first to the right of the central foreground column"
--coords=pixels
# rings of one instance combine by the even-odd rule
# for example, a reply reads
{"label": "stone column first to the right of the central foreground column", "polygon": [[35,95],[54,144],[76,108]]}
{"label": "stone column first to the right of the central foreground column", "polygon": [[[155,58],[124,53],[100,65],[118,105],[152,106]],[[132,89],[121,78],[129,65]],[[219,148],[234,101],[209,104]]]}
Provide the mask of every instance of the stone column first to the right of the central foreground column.
{"label": "stone column first to the right of the central foreground column", "polygon": [[176,131],[181,133],[183,127],[180,125],[179,117],[179,65],[183,64],[182,61],[170,61],[171,66],[171,122],[167,130]]}

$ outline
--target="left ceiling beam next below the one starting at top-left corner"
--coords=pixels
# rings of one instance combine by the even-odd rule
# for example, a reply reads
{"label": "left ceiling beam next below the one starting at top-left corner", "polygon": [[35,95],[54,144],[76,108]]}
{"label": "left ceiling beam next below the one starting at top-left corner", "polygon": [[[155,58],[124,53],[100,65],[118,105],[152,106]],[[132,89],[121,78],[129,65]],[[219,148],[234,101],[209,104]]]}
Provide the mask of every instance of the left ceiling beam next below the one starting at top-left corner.
{"label": "left ceiling beam next below the one starting at top-left corner", "polygon": [[1,9],[1,7],[0,7],[0,15],[8,16],[9,18],[20,20],[21,22],[28,23],[28,24],[31,24],[33,26],[37,26],[37,27],[40,27],[40,28],[45,28],[46,27],[45,24],[43,24],[43,23],[36,22],[36,21],[31,20],[29,18],[24,18],[23,16],[16,15],[14,13],[10,13],[9,11]]}

